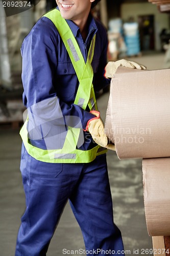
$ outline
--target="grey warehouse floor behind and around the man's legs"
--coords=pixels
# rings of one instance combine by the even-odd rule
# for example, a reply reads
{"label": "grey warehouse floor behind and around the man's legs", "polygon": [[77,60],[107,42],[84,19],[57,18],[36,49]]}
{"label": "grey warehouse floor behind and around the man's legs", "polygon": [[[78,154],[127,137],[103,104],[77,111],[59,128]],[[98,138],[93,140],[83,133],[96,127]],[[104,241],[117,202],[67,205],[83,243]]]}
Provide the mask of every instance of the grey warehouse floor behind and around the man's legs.
{"label": "grey warehouse floor behind and around the man's legs", "polygon": [[[128,59],[147,66],[149,70],[164,67],[164,53],[148,53]],[[109,93],[105,93],[98,99],[103,120],[108,97]],[[0,126],[0,141],[0,255],[13,256],[20,217],[25,210],[25,196],[19,172],[21,139],[18,130],[1,130]],[[152,239],[148,236],[144,216],[141,160],[118,160],[115,152],[110,151],[107,153],[107,160],[114,222],[122,231],[125,250],[129,250],[126,254],[141,255],[142,249],[152,248]],[[61,256],[63,249],[80,248],[84,248],[81,230],[67,204],[47,255]]]}

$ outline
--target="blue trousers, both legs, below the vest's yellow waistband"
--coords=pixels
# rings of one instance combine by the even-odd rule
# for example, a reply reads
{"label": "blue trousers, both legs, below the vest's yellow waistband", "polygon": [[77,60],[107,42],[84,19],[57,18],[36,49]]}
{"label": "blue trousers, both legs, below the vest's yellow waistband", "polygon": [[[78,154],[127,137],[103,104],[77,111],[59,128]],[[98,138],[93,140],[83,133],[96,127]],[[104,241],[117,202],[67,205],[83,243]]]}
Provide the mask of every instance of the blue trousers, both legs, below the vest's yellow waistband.
{"label": "blue trousers, both legs, below the vest's yellow waistband", "polygon": [[86,249],[122,250],[120,232],[113,224],[105,156],[88,164],[52,164],[37,161],[25,151],[20,169],[26,211],[21,218],[16,256],[46,255],[68,198]]}

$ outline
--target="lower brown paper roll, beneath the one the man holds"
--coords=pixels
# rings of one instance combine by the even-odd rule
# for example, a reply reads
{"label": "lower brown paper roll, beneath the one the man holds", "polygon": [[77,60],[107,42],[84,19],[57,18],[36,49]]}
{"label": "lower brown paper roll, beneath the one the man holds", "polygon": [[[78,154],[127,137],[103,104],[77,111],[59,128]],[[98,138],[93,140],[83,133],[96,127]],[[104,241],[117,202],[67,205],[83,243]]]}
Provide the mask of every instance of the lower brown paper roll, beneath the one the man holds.
{"label": "lower brown paper roll, beneath the one the man holds", "polygon": [[170,236],[170,157],[143,159],[144,208],[150,236]]}

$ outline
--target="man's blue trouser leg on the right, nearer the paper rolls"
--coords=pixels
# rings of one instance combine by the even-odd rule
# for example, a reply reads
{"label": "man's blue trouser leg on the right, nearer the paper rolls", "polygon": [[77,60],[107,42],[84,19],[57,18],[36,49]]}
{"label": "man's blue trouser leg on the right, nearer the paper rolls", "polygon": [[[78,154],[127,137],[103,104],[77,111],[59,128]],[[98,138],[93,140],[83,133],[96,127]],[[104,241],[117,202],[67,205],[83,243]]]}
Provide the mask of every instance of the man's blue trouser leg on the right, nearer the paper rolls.
{"label": "man's blue trouser leg on the right, nearer the paper rolls", "polygon": [[124,250],[121,233],[113,223],[106,155],[84,165],[70,205],[82,229],[86,250],[90,251],[87,255],[124,255],[120,253]]}

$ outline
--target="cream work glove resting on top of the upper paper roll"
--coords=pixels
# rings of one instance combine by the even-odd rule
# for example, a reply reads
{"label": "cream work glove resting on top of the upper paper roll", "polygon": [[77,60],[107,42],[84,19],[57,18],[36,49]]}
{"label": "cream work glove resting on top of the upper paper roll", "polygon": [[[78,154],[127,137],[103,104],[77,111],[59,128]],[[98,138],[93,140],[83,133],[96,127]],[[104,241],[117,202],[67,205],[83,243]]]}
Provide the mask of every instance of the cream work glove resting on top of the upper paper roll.
{"label": "cream work glove resting on top of the upper paper roll", "polygon": [[144,66],[137,64],[136,62],[129,61],[126,59],[109,61],[105,67],[105,77],[112,78],[119,66],[123,66],[130,69],[143,69],[143,70],[147,69]]}

